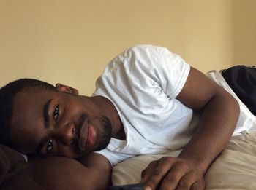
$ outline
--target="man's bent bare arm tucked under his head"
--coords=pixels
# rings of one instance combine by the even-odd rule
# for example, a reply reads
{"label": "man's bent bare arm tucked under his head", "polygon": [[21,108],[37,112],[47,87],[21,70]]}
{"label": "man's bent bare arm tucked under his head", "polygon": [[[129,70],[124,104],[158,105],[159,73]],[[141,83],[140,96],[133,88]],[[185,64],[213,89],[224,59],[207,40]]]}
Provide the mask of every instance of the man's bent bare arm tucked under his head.
{"label": "man's bent bare arm tucked under his head", "polygon": [[31,165],[34,180],[45,189],[91,190],[110,186],[112,167],[100,154],[92,153],[79,162],[66,157],[37,157]]}

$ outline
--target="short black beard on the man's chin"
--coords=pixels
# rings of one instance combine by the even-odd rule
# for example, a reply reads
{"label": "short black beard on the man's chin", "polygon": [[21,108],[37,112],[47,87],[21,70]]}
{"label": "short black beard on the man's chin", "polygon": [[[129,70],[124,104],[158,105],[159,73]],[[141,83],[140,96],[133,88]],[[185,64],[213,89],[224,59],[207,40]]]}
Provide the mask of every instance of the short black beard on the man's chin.
{"label": "short black beard on the man's chin", "polygon": [[100,134],[100,142],[99,146],[95,151],[100,151],[102,149],[105,149],[108,144],[110,143],[110,139],[112,136],[112,124],[107,116],[102,116],[101,119],[102,122],[102,133]]}

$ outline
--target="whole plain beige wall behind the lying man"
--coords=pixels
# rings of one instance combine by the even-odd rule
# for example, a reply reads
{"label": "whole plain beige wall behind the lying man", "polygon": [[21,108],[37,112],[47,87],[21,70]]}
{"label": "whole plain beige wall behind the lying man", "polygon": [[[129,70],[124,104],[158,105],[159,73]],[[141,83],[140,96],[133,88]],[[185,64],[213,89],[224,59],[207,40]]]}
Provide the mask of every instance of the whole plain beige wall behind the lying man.
{"label": "whole plain beige wall behind the lying man", "polygon": [[203,72],[253,64],[255,9],[254,0],[0,0],[0,85],[33,77],[90,95],[133,44],[165,46]]}

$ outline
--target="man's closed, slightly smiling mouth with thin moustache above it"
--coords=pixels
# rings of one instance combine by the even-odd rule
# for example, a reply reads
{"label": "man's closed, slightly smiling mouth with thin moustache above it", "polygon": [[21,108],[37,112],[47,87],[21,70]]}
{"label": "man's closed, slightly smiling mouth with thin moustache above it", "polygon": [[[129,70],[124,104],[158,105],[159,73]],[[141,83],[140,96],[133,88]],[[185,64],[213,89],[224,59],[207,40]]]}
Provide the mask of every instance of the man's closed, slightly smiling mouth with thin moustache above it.
{"label": "man's closed, slightly smiling mouth with thin moustache above it", "polygon": [[88,119],[84,119],[83,124],[80,127],[78,147],[80,151],[85,151],[94,146],[96,140],[96,131],[94,127],[88,122]]}

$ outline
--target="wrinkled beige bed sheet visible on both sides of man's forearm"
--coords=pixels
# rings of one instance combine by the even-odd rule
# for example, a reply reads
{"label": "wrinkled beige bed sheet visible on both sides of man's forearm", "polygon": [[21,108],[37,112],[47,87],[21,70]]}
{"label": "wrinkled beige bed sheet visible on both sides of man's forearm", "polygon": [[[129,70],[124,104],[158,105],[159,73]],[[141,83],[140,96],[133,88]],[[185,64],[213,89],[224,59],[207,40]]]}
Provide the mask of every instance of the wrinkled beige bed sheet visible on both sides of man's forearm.
{"label": "wrinkled beige bed sheet visible on both sides of man's forearm", "polygon": [[[113,168],[113,185],[139,183],[149,162],[180,151],[127,159]],[[234,136],[205,175],[206,189],[256,189],[256,132]]]}

